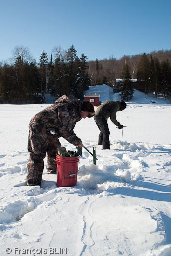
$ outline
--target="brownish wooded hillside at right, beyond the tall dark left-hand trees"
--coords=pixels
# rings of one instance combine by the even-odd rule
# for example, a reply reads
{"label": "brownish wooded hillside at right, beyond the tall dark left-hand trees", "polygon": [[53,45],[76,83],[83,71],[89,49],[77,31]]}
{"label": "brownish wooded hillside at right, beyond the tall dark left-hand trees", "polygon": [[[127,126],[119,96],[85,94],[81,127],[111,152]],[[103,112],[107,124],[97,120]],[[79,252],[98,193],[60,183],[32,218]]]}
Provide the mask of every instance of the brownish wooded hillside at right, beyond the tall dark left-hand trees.
{"label": "brownish wooded hillside at right, beyond the tall dark left-hand trees", "polygon": [[[120,60],[110,56],[109,60],[96,59],[88,62],[88,65],[91,85],[105,83],[115,87],[116,78],[124,80],[126,76],[125,79],[128,81],[137,79],[137,83],[144,86],[145,94],[153,92],[156,97],[157,94],[162,94],[165,98],[171,95],[171,51],[123,56]],[[121,90],[124,90],[123,84]]]}

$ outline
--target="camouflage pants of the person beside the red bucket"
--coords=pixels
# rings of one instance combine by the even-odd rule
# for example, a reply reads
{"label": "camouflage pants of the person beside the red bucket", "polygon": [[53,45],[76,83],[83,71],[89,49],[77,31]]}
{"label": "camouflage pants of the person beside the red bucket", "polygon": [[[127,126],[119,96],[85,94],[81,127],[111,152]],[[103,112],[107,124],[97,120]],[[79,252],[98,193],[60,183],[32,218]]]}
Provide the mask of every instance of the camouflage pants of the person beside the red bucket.
{"label": "camouflage pants of the person beside the red bucket", "polygon": [[29,131],[28,137],[28,152],[30,157],[27,163],[27,185],[41,184],[42,174],[44,169],[44,161],[47,154],[47,169],[51,173],[56,173],[56,153],[57,147],[61,147],[57,136],[47,132],[44,138],[41,134],[34,134]]}

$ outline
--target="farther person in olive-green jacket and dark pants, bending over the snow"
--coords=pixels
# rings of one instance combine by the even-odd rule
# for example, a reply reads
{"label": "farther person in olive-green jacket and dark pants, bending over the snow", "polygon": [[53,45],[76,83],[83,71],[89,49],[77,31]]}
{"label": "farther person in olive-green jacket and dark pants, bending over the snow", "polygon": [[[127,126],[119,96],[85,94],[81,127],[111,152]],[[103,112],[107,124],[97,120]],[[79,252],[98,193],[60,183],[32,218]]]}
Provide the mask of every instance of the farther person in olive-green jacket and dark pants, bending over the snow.
{"label": "farther person in olive-green jacket and dark pants, bending over the snow", "polygon": [[122,129],[121,125],[116,120],[117,111],[122,111],[126,108],[124,101],[106,101],[100,105],[94,115],[94,120],[100,130],[98,145],[102,145],[103,149],[110,149],[110,131],[108,128],[107,119],[110,117],[111,121],[119,128]]}

